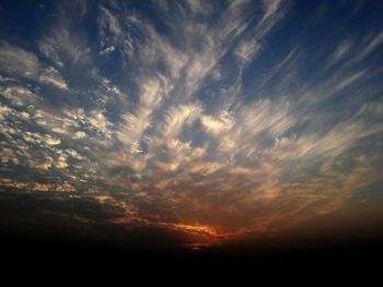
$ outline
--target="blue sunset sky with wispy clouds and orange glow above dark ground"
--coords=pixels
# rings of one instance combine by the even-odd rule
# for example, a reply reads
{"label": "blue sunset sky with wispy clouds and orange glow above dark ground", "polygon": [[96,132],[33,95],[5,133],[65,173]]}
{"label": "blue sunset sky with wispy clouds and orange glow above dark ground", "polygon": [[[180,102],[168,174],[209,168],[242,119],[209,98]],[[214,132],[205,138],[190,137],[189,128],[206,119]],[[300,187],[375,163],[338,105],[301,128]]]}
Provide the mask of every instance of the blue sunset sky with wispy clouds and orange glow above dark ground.
{"label": "blue sunset sky with wispy clouds and orange glow above dark ground", "polygon": [[1,1],[0,225],[197,250],[382,223],[382,19]]}

